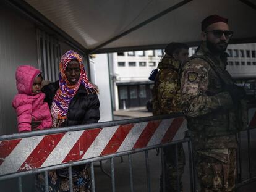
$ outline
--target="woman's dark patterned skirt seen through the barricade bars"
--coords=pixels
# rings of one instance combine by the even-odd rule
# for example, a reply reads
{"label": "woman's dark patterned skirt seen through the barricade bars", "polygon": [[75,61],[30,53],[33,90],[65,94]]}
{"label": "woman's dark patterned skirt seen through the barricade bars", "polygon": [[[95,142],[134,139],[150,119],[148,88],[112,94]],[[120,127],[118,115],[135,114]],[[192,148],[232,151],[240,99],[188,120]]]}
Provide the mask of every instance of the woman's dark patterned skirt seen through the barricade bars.
{"label": "woman's dark patterned skirt seen through the barricade bars", "polygon": [[[90,176],[85,165],[72,167],[72,181],[74,192],[90,192]],[[58,169],[48,172],[49,192],[67,192],[69,186],[68,169]],[[43,173],[35,176],[37,192],[45,191],[45,176]]]}

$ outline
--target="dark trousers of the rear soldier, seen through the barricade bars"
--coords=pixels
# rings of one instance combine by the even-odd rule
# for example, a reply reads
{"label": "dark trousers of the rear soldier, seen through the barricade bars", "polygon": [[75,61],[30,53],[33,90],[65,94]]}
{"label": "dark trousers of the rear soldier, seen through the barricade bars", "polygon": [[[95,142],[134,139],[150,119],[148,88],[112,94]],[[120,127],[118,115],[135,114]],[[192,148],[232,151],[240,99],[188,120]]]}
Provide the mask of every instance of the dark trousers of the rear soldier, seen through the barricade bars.
{"label": "dark trousers of the rear soldier, seen through the barricade bars", "polygon": [[[177,177],[179,178],[179,190],[182,191],[181,177],[184,172],[185,154],[182,143],[177,144],[177,160],[176,162],[176,146],[171,145],[163,148],[164,151],[164,174],[165,174],[165,191],[176,192],[177,190]],[[178,169],[178,173],[177,173]],[[160,191],[163,191],[163,175],[160,177]]]}

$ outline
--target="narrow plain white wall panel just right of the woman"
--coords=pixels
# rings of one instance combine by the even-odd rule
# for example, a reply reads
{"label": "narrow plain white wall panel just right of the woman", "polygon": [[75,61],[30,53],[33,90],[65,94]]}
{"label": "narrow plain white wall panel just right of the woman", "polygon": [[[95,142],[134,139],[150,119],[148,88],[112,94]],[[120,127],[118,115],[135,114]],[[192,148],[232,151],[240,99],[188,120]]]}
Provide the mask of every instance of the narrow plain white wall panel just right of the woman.
{"label": "narrow plain white wall panel just right of the woman", "polygon": [[93,61],[90,62],[91,80],[95,83],[100,94],[100,121],[111,121],[112,107],[111,107],[111,93],[109,85],[109,70],[108,70],[108,54],[97,54]]}

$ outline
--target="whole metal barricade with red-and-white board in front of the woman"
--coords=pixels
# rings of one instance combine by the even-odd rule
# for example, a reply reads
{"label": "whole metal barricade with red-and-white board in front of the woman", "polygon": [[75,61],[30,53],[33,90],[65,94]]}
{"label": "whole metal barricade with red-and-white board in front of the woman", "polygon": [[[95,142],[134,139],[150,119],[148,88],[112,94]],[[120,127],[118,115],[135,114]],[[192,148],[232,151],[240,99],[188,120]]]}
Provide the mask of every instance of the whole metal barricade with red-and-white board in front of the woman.
{"label": "whole metal barricade with red-and-white board in front of the woman", "polygon": [[[161,167],[164,167],[163,147],[174,144],[177,154],[177,144],[187,143],[190,185],[194,191],[191,141],[184,139],[185,129],[186,119],[182,114],[172,114],[3,135],[0,136],[0,180],[18,178],[17,186],[22,191],[22,177],[44,173],[45,191],[49,191],[48,172],[68,168],[70,191],[73,191],[72,167],[90,164],[91,190],[96,191],[94,164],[109,159],[112,191],[116,191],[114,157],[127,156],[130,191],[134,191],[131,157],[145,152],[147,191],[152,191],[148,151],[160,149]],[[162,174],[164,178],[164,169]],[[180,191],[178,177],[176,182]]]}

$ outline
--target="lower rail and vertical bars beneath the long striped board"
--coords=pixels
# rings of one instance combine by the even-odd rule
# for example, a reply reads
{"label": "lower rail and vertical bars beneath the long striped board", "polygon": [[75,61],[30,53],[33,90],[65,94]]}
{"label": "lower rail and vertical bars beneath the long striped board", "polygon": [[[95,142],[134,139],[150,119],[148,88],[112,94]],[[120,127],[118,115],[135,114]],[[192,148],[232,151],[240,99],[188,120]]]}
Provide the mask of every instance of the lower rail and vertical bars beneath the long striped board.
{"label": "lower rail and vertical bars beneath the long striped board", "polygon": [[[98,161],[103,161],[103,160],[110,160],[111,162],[111,186],[112,186],[112,191],[116,191],[116,182],[115,182],[115,174],[114,174],[114,157],[119,157],[119,156],[128,156],[129,159],[129,177],[130,177],[130,191],[134,191],[134,181],[133,181],[133,171],[132,171],[132,159],[131,159],[131,155],[137,152],[145,152],[145,165],[146,165],[146,177],[147,177],[147,191],[152,191],[151,190],[151,180],[150,180],[150,166],[149,166],[149,159],[148,159],[148,151],[151,149],[157,149],[160,148],[161,151],[161,167],[162,167],[162,174],[163,174],[163,178],[165,175],[165,169],[163,169],[164,167],[164,156],[163,156],[163,147],[164,146],[169,146],[171,144],[175,144],[177,146],[178,143],[188,143],[189,146],[191,146],[190,144],[190,140],[189,139],[185,139],[184,141],[174,141],[172,143],[168,143],[168,144],[164,144],[164,145],[158,145],[158,146],[154,146],[154,147],[150,147],[150,148],[144,148],[144,149],[139,149],[139,150],[134,150],[134,151],[127,151],[127,152],[120,152],[120,153],[116,153],[116,154],[112,154],[109,156],[105,156],[105,157],[96,157],[96,158],[92,158],[92,159],[87,159],[85,161],[79,161],[79,162],[70,162],[69,164],[61,164],[61,165],[54,165],[52,167],[46,167],[43,169],[38,169],[38,170],[33,170],[33,171],[28,171],[28,172],[22,172],[22,173],[17,173],[17,174],[13,174],[13,175],[9,175],[8,177],[2,177],[0,178],[0,180],[6,180],[9,178],[17,178],[18,179],[18,188],[19,188],[19,192],[22,192],[22,177],[25,175],[34,175],[37,173],[44,173],[45,175],[45,191],[49,191],[49,181],[48,181],[48,172],[51,170],[56,170],[56,169],[62,169],[62,168],[68,168],[68,172],[69,172],[69,186],[70,186],[70,192],[73,191],[72,189],[72,167],[74,167],[75,165],[82,165],[82,164],[90,164],[90,177],[91,177],[91,182],[92,182],[92,187],[91,190],[93,192],[96,191],[95,188],[95,166],[94,163],[98,162]],[[176,159],[176,165],[177,165],[177,159]],[[194,186],[194,175],[193,175],[193,164],[192,164],[192,153],[191,150],[189,150],[189,173],[190,173],[190,189],[191,191],[195,191],[195,186]],[[178,172],[178,170],[177,170]],[[177,177],[177,191],[181,191],[181,189],[179,189],[179,177]],[[163,180],[163,191],[165,191],[165,185],[166,183]]]}

